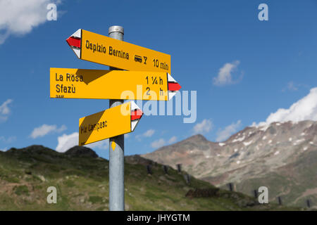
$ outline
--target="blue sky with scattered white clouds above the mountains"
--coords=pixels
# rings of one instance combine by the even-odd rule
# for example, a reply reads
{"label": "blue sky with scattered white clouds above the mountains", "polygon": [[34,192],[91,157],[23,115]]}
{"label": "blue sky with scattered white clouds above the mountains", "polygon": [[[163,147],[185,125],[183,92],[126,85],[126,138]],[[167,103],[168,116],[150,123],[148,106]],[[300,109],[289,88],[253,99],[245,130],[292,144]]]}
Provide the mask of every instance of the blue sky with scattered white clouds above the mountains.
{"label": "blue sky with scattered white clouds above the mountains", "polygon": [[[317,1],[63,0],[55,1],[56,21],[46,20],[54,1],[8,2],[0,1],[2,150],[56,149],[58,137],[61,147],[77,132],[80,117],[108,108],[108,100],[49,98],[49,68],[108,69],[69,48],[66,39],[79,28],[108,36],[108,27],[123,26],[125,41],[170,54],[181,90],[197,91],[196,122],[144,116],[125,139],[125,155],[197,133],[222,141],[272,118],[316,120]],[[258,19],[261,3],[267,21]],[[108,158],[107,141],[93,147]]]}

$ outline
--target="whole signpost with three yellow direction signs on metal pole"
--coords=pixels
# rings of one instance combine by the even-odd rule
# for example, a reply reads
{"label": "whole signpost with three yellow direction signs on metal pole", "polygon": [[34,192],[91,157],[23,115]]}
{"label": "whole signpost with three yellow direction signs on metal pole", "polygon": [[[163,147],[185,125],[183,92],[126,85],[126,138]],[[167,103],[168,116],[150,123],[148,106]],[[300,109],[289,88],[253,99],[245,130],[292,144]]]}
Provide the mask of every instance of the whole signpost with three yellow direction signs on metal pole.
{"label": "whole signpost with three yellow direction signs on metal pole", "polygon": [[[124,134],[142,110],[123,100],[169,101],[181,86],[170,75],[170,55],[123,41],[123,27],[109,37],[79,29],[66,39],[76,56],[109,70],[50,69],[51,98],[109,99],[109,108],[79,120],[79,146],[109,139],[109,210],[125,210]],[[130,71],[123,71],[130,70]]]}

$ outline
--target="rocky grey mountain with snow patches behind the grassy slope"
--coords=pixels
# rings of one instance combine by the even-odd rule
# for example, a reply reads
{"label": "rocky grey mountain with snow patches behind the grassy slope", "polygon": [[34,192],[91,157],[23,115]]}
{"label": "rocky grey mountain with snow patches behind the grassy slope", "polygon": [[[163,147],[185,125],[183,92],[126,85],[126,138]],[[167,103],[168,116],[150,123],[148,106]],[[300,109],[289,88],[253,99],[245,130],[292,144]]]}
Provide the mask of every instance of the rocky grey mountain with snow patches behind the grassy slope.
{"label": "rocky grey mountain with snow patches behind the grassy slope", "polygon": [[269,200],[317,207],[317,122],[273,122],[246,127],[222,143],[196,135],[142,155],[216,186],[228,183],[252,195],[268,187]]}

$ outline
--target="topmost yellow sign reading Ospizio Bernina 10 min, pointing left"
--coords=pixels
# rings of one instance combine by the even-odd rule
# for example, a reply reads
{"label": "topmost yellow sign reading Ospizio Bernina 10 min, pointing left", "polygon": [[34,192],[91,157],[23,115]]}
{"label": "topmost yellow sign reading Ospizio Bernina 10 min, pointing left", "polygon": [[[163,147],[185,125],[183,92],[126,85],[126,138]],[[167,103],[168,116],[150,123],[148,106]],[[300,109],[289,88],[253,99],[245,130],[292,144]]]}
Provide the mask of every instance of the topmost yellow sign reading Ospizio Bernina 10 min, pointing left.
{"label": "topmost yellow sign reading Ospizio Bernina 10 min, pointing left", "polygon": [[168,72],[170,55],[79,29],[67,40],[78,58],[123,70]]}

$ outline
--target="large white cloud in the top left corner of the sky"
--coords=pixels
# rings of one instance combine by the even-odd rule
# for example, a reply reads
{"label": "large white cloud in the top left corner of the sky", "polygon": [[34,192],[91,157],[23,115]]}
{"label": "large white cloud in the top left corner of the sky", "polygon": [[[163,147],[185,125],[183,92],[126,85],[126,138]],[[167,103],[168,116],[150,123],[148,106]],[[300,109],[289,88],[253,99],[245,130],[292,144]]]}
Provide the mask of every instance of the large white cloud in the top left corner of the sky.
{"label": "large white cloud in the top left corner of the sky", "polygon": [[[23,35],[46,22],[46,6],[51,0],[1,0],[0,44],[11,35]],[[61,1],[55,1],[59,4]]]}

